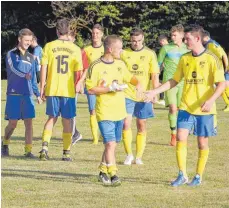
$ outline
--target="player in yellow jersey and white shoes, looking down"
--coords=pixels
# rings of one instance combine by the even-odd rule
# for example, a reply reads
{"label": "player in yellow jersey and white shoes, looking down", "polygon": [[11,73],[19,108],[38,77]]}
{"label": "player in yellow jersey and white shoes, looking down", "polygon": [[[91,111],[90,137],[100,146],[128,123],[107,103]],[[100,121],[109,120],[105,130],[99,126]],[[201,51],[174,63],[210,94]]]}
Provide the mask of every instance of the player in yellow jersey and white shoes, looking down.
{"label": "player in yellow jersey and white shoes, looking down", "polygon": [[[122,53],[122,60],[126,63],[131,74],[135,75],[141,83],[142,90],[148,90],[150,78],[153,87],[159,86],[159,67],[157,56],[154,51],[144,46],[144,33],[141,29],[133,29],[130,33],[131,48],[125,49]],[[142,165],[142,155],[146,145],[146,120],[154,117],[152,103],[144,103],[140,96],[136,95],[136,89],[128,84],[125,90],[126,110],[128,116],[124,121],[123,143],[127,154],[125,165],[131,165],[134,161],[132,153],[132,116],[136,117],[136,160],[135,163]]]}

